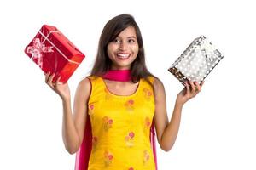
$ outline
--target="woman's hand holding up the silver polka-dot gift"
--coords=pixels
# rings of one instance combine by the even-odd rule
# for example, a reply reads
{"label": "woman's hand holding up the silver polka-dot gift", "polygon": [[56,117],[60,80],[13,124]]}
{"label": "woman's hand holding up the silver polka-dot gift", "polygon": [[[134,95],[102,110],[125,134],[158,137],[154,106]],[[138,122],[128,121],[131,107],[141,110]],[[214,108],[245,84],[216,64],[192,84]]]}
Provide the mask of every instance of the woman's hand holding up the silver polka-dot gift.
{"label": "woman's hand holding up the silver polka-dot gift", "polygon": [[[198,82],[185,82],[186,87],[183,88],[183,90],[177,94],[177,104],[183,105],[186,103],[189,99],[194,98],[197,94],[201,92],[201,87],[204,84],[204,82],[201,82],[201,85],[199,85]],[[191,86],[191,89],[189,88],[189,84]]]}

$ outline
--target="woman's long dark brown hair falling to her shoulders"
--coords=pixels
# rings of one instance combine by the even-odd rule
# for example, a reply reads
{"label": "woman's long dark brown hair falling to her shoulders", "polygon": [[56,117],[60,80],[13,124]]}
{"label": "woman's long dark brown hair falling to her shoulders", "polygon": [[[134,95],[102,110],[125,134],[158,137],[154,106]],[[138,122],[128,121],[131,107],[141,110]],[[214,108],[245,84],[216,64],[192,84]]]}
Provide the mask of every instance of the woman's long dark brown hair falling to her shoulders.
{"label": "woman's long dark brown hair falling to her shoulders", "polygon": [[[121,31],[124,31],[128,26],[133,26],[136,31],[138,42],[138,54],[137,58],[131,64],[131,80],[132,82],[138,82],[140,78],[145,78],[147,82],[148,76],[154,77],[151,74],[145,63],[145,54],[143,48],[143,37],[139,27],[133,16],[130,14],[120,14],[109,20],[102,30],[102,35],[99,40],[98,51],[96,54],[96,61],[90,72],[90,76],[101,77],[111,68],[112,61],[108,58],[107,48],[108,43],[112,42],[119,36]],[[150,82],[149,82],[150,83]],[[150,83],[151,84],[151,83]],[[151,84],[152,85],[152,84]]]}

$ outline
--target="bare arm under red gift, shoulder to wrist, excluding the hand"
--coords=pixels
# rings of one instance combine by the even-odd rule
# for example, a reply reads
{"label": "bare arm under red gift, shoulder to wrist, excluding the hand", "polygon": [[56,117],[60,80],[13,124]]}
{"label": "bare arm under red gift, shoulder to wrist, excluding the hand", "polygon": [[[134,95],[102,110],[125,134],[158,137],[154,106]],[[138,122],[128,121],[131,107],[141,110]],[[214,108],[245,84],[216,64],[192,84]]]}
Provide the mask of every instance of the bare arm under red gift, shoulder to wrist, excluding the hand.
{"label": "bare arm under red gift, shoulder to wrist, excluding the hand", "polygon": [[66,150],[70,154],[77,152],[83,142],[90,88],[90,80],[88,78],[79,82],[73,104],[73,116],[70,100],[63,101],[62,138]]}

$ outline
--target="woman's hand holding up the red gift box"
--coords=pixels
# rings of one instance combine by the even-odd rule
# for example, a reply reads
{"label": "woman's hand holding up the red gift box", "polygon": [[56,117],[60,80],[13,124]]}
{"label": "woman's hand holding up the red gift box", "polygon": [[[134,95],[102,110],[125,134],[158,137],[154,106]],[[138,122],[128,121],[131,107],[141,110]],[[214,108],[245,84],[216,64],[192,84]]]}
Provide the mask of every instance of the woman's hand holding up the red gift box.
{"label": "woman's hand holding up the red gift box", "polygon": [[54,77],[54,73],[50,74],[50,72],[48,72],[47,74],[45,74],[45,83],[48,84],[49,87],[53,89],[56,94],[59,94],[62,100],[70,99],[70,90],[67,82],[64,84],[59,82],[61,80],[61,76],[57,78],[56,82],[53,82]]}

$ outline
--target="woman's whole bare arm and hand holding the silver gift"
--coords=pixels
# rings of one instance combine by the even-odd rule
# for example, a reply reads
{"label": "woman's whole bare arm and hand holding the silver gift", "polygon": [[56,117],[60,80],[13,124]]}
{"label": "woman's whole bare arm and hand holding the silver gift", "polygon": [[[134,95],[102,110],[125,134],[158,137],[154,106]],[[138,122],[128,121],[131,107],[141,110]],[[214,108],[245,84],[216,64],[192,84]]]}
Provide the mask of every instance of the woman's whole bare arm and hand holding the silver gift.
{"label": "woman's whole bare arm and hand holding the silver gift", "polygon": [[[185,102],[195,97],[195,95],[201,91],[201,86],[199,86],[197,83],[195,83],[195,85],[193,82],[190,84],[192,87],[191,90],[187,84],[186,88],[183,88],[183,90],[177,94],[176,103],[172,112],[172,118],[169,122],[166,111],[166,93],[164,85],[158,79],[155,79],[154,81],[154,124],[156,128],[157,139],[162,150],[168,151],[172,149],[172,146],[177,139],[183,105]],[[195,90],[195,86],[198,89],[197,91]]]}

